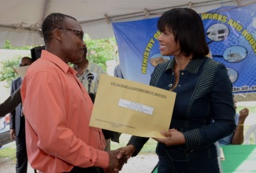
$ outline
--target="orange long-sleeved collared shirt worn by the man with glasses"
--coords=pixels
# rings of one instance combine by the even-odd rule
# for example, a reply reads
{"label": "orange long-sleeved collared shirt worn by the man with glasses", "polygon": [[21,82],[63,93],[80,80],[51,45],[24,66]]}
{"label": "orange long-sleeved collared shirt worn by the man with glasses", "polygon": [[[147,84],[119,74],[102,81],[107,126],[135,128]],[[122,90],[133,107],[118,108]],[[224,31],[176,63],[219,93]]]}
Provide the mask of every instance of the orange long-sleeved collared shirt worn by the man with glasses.
{"label": "orange long-sleeved collared shirt worn by the man with glasses", "polygon": [[28,68],[21,97],[33,168],[48,173],[108,166],[102,130],[89,127],[91,98],[68,64],[43,50]]}

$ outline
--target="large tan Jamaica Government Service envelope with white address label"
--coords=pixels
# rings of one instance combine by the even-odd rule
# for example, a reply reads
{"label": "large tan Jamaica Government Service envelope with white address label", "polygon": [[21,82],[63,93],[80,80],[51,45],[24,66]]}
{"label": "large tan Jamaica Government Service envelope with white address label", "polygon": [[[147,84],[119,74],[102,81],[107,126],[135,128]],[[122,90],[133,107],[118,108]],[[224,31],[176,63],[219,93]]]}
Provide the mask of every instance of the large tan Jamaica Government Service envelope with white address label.
{"label": "large tan Jamaica Government Service envelope with white address label", "polygon": [[90,126],[149,138],[164,138],[176,93],[101,75]]}

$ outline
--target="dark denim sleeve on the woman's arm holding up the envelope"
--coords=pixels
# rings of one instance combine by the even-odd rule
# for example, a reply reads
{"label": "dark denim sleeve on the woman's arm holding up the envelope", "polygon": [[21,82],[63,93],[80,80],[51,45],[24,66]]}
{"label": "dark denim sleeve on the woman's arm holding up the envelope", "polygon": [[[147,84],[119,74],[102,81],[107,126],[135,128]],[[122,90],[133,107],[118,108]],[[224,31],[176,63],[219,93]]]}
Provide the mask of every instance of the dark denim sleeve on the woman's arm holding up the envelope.
{"label": "dark denim sleeve on the woman's arm holding up the envelope", "polygon": [[187,152],[206,149],[214,142],[232,134],[236,128],[232,83],[223,64],[218,64],[214,71],[213,85],[209,95],[210,110],[214,122],[206,127],[184,132]]}

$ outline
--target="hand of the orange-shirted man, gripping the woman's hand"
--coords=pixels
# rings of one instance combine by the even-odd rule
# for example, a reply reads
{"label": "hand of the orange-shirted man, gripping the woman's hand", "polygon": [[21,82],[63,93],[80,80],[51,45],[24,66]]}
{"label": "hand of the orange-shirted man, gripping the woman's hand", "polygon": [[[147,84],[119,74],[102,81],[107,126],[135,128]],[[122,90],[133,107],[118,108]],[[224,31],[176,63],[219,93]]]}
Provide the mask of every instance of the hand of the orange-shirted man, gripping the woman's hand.
{"label": "hand of the orange-shirted man, gripping the woman's hand", "polygon": [[107,151],[107,153],[109,153],[109,167],[106,168],[107,172],[121,171],[123,165],[127,163],[126,156],[121,156],[120,158],[117,158],[119,149]]}

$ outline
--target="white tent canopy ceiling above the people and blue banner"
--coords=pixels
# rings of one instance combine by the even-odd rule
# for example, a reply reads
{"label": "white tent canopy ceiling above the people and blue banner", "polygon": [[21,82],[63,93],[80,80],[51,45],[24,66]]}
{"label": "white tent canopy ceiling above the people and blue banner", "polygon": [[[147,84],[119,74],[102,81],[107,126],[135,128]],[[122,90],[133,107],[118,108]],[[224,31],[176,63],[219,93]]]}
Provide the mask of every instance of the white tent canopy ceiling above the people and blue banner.
{"label": "white tent canopy ceiling above the people and blue banner", "polygon": [[6,39],[13,46],[39,45],[38,29],[50,13],[75,17],[91,39],[113,37],[111,22],[158,17],[173,7],[198,13],[221,6],[248,4],[253,0],[0,0],[0,47]]}

